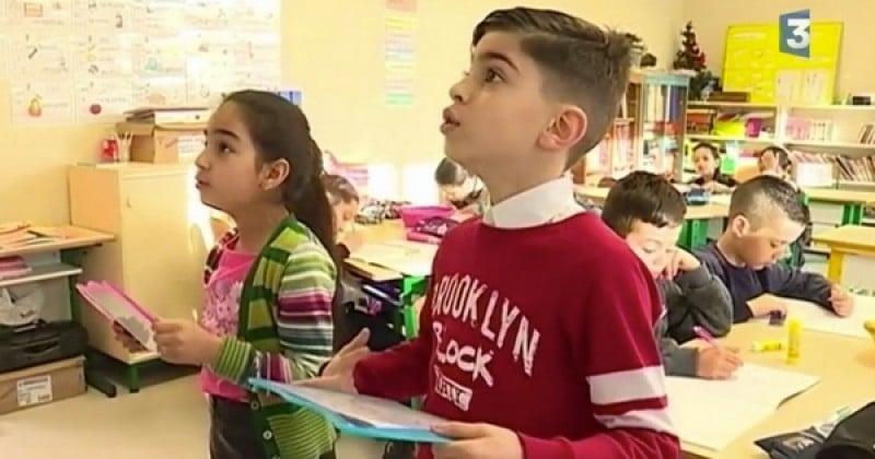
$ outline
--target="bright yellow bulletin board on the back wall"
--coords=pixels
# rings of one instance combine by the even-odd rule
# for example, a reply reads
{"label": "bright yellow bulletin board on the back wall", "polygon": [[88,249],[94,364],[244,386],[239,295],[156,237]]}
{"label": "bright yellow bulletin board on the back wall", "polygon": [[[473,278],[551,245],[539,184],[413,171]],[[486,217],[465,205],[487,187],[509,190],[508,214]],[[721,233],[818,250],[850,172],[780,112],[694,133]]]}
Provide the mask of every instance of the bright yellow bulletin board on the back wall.
{"label": "bright yellow bulletin board on the back wall", "polygon": [[723,90],[750,93],[763,104],[832,104],[843,23],[812,24],[809,58],[779,51],[778,24],[726,30]]}

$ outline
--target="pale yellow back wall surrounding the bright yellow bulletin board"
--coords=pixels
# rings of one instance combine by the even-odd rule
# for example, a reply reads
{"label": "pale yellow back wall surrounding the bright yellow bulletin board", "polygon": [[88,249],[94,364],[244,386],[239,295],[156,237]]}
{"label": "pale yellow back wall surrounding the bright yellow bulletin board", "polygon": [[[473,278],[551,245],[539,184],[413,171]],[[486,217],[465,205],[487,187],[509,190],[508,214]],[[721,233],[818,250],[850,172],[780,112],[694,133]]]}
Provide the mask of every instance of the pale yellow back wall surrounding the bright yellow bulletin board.
{"label": "pale yellow back wall surrounding the bright yellow bulletin board", "polygon": [[[734,24],[778,23],[781,13],[812,10],[812,21],[841,21],[844,35],[839,59],[838,95],[849,92],[875,93],[875,59],[868,47],[875,39],[875,7],[871,0],[685,0],[684,11],[692,21],[708,67],[723,69],[726,27]],[[678,40],[680,37],[678,36]]]}

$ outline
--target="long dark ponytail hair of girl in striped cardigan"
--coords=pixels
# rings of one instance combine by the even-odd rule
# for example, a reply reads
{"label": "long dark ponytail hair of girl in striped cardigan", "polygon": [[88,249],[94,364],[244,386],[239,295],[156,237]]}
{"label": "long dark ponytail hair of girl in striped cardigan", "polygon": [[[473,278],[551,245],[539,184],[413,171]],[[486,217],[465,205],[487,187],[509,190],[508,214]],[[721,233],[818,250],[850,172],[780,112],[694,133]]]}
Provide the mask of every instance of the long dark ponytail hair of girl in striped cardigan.
{"label": "long dark ponytail hair of girl in striped cardigan", "polygon": [[231,93],[222,104],[236,105],[262,162],[289,162],[289,176],[282,184],[283,205],[310,227],[329,254],[335,254],[334,212],[319,179],[322,150],[311,137],[301,108],[277,94],[255,90]]}

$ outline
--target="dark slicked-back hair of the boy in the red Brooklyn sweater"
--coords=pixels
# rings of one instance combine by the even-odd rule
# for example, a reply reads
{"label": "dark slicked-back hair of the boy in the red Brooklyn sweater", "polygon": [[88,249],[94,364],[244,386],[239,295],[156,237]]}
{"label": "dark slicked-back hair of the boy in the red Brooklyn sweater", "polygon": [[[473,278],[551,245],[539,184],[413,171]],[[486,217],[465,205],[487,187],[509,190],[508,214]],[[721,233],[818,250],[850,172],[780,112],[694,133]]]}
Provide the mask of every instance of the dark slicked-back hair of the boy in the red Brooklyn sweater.
{"label": "dark slicked-back hair of the boy in the red Brooklyn sweater", "polygon": [[523,52],[542,71],[542,91],[586,113],[586,132],[565,163],[571,167],[604,139],[617,116],[629,84],[629,38],[560,11],[523,7],[489,13],[474,28],[471,46],[490,32],[518,35]]}

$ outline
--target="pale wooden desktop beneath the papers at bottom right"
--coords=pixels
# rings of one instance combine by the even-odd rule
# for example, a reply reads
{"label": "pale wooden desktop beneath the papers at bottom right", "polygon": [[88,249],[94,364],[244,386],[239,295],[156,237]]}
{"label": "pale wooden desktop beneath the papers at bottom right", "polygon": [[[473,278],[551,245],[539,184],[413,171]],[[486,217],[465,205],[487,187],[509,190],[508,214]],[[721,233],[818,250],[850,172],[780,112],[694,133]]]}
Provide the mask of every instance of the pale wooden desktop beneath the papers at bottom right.
{"label": "pale wooden desktop beneath the papers at bottom right", "polygon": [[[871,340],[805,330],[801,360],[792,366],[785,363],[784,352],[750,352],[754,341],[784,338],[782,327],[749,322],[734,326],[730,336],[720,341],[738,346],[746,362],[816,375],[820,381],[785,401],[774,414],[721,451],[681,444],[685,458],[763,459],[768,456],[754,445],[755,439],[810,426],[841,407],[855,410],[875,399],[875,345]],[[708,422],[709,415],[720,415],[709,413],[707,407],[702,409],[702,422]]]}

